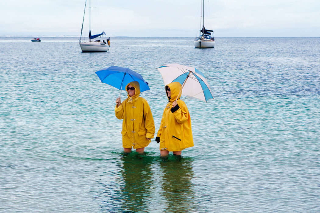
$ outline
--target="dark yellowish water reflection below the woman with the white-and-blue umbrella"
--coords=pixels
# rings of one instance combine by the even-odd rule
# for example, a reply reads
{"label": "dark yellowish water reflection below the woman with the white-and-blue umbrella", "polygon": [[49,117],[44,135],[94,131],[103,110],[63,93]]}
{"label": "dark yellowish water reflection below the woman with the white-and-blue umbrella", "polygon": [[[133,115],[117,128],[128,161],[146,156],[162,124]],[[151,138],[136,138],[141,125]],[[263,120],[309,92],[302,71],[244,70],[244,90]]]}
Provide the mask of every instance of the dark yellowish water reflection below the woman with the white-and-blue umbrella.
{"label": "dark yellowish water reflection below the woman with the white-and-blue umbrella", "polygon": [[191,159],[172,156],[162,160],[160,166],[166,200],[164,212],[191,212],[195,208]]}

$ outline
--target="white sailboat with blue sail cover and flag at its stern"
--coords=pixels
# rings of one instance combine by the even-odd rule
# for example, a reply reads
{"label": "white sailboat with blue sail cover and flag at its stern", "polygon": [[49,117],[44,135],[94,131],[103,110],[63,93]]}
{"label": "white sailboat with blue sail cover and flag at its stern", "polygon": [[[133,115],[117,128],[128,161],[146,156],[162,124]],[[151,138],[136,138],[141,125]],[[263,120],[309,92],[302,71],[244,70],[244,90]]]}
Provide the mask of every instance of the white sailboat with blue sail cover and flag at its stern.
{"label": "white sailboat with blue sail cover and flag at its stern", "polygon": [[[85,4],[87,4],[87,1],[85,1]],[[84,13],[85,13],[85,6],[86,5],[84,5]],[[84,22],[84,14],[83,14],[82,27],[81,27],[81,35],[79,39],[79,44],[82,52],[107,52],[110,46],[110,37],[106,39],[107,42],[105,42],[104,40],[101,42],[100,36],[105,35],[105,32],[102,32],[96,35],[91,35],[91,0],[89,1],[89,42],[81,41],[83,22]],[[99,37],[99,39],[92,41],[92,39],[97,37]]]}

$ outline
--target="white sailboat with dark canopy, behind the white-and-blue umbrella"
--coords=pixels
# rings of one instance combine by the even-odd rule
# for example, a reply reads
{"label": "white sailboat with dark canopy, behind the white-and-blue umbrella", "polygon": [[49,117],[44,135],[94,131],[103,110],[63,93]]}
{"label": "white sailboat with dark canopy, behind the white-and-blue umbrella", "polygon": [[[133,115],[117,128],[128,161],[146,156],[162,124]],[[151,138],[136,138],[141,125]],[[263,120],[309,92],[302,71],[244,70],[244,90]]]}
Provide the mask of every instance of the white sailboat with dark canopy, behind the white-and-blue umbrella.
{"label": "white sailboat with dark canopy, behind the white-and-blue umbrella", "polygon": [[199,37],[195,38],[194,44],[195,48],[214,48],[214,37],[213,37],[213,30],[207,30],[204,27],[204,0],[203,0],[203,24],[202,29],[200,30]]}

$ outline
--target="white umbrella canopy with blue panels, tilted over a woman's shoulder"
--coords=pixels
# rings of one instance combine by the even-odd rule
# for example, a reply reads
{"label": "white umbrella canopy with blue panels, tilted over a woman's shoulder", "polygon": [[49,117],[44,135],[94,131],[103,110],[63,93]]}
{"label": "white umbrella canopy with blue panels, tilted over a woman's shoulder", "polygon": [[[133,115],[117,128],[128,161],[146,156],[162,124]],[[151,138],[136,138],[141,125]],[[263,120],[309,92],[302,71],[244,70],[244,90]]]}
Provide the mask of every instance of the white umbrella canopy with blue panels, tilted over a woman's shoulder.
{"label": "white umbrella canopy with blue panels, tilted over a woman's shoulder", "polygon": [[182,95],[188,95],[207,102],[213,98],[204,74],[194,67],[180,64],[163,65],[157,70],[162,75],[164,85],[171,82],[180,82]]}

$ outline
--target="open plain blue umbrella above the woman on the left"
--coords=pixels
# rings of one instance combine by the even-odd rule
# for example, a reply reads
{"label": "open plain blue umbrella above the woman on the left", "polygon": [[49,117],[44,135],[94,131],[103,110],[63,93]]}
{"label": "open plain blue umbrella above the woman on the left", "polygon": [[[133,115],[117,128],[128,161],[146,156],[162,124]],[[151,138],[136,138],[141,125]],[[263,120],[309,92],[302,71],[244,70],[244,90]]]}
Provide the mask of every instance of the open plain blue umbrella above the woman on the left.
{"label": "open plain blue umbrella above the woman on the left", "polygon": [[129,68],[110,66],[109,68],[99,70],[95,73],[98,75],[101,82],[120,89],[120,95],[121,90],[125,90],[125,86],[132,81],[139,82],[140,92],[150,90],[148,82],[145,81],[139,73],[134,72]]}

